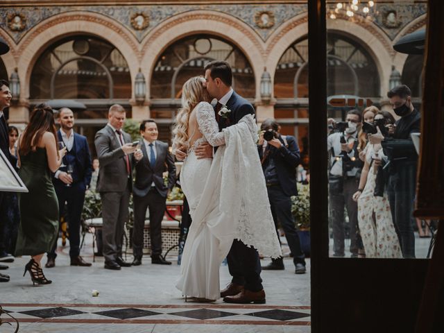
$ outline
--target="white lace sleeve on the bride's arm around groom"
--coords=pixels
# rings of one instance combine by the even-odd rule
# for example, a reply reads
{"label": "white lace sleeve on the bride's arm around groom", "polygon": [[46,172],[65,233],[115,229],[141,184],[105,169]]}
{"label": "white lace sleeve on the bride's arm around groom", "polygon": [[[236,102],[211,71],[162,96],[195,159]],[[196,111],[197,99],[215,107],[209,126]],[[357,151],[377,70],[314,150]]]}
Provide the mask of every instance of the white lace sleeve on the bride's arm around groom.
{"label": "white lace sleeve on the bride's arm around groom", "polygon": [[214,147],[225,144],[225,137],[222,132],[219,132],[219,126],[210,103],[201,102],[198,105],[196,118],[200,133],[203,134],[209,144]]}

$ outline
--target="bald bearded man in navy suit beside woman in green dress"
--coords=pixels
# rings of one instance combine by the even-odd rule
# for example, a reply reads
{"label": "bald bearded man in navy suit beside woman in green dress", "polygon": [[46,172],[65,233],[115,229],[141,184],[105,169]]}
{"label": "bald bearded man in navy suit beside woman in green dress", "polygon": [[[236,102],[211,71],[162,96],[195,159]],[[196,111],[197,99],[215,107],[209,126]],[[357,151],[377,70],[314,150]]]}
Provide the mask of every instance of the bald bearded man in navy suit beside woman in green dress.
{"label": "bald bearded man in navy suit beside woman in green dress", "polygon": [[[59,110],[58,121],[60,123],[60,130],[57,131],[58,141],[65,143],[67,154],[63,157],[63,166],[54,174],[53,184],[60,216],[65,214],[65,203],[67,207],[71,266],[91,266],[90,262],[85,262],[80,256],[80,217],[85,191],[91,181],[91,154],[86,137],[74,132],[74,113],[69,108]],[[56,248],[57,243],[48,253],[46,268],[56,266]]]}

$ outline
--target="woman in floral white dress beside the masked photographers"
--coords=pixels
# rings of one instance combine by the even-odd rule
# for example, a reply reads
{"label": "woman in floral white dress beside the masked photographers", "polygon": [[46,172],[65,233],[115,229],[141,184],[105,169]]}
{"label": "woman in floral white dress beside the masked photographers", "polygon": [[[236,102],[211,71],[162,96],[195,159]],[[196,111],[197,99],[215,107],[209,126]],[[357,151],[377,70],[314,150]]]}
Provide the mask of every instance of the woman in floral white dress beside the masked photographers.
{"label": "woman in floral white dress beside the masked photographers", "polygon": [[[394,121],[389,112],[377,113],[374,117],[375,126],[378,126],[379,119],[384,119],[385,127]],[[382,147],[380,144],[368,144],[367,147],[359,189],[353,194],[353,200],[358,203],[359,232],[366,257],[402,258],[387,193],[377,189],[377,174],[382,172],[382,168],[373,166],[373,159],[379,158]]]}

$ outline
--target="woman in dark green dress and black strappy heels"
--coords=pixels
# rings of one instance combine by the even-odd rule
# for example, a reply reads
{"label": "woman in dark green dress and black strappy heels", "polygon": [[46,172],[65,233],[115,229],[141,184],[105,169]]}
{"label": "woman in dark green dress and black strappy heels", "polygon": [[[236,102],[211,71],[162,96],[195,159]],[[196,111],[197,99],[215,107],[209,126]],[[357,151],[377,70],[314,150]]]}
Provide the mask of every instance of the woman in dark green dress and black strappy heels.
{"label": "woman in dark green dress and black strappy heels", "polygon": [[40,261],[51,250],[58,236],[58,200],[51,181],[66,153],[58,151],[53,110],[42,103],[31,114],[19,139],[19,176],[28,188],[20,194],[21,221],[15,255],[31,255],[25,266],[33,284],[49,284]]}

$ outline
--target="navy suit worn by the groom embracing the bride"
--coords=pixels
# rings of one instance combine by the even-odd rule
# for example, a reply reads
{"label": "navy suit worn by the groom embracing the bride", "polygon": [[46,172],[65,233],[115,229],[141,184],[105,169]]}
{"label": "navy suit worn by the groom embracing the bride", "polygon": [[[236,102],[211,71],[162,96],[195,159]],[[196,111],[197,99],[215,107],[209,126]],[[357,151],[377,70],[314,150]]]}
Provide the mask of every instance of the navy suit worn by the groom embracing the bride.
{"label": "navy suit worn by the groom embracing the bride", "polygon": [[[225,104],[231,112],[228,118],[219,117],[219,130],[235,125],[246,114],[255,114],[255,109],[250,102],[233,92]],[[261,263],[259,254],[255,248],[248,248],[241,241],[234,239],[227,256],[228,269],[232,275],[232,283],[244,286],[249,291],[260,291],[262,287]]]}

